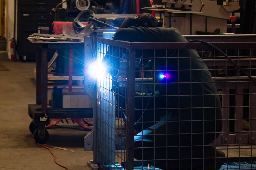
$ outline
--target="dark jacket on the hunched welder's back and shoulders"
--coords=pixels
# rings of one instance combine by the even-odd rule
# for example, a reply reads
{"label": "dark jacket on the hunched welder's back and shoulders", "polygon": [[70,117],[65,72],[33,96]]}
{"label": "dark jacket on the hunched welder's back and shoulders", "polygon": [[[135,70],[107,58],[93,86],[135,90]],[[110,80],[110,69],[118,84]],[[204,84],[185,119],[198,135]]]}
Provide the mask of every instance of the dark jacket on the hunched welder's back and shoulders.
{"label": "dark jacket on the hunched welder's back and shoulders", "polygon": [[[113,39],[130,42],[187,42],[176,28],[162,27],[121,28],[116,31]],[[155,96],[155,100],[149,101],[147,105],[147,109],[153,109],[155,106],[157,115],[154,117],[153,114],[145,111],[144,121],[179,120],[182,125],[177,127],[179,133],[220,132],[222,130],[222,123],[219,120],[222,119],[222,112],[218,92],[208,67],[196,50],[137,50],[136,58],[140,57],[143,63],[148,60],[143,58],[154,57],[152,60],[154,60],[155,70],[161,70],[154,72],[154,81],[164,82],[164,84],[156,85],[156,90],[159,90],[160,95]],[[167,59],[160,57],[167,57]],[[170,78],[161,80],[159,78],[161,73],[168,73]],[[146,107],[146,104],[145,102],[139,103],[141,106],[137,104],[135,107],[142,109]],[[163,108],[166,109],[163,110]],[[141,114],[137,118],[140,116]],[[173,126],[170,127],[173,128]],[[147,127],[141,130],[145,128]],[[217,136],[218,133],[205,135],[204,143],[210,143]]]}

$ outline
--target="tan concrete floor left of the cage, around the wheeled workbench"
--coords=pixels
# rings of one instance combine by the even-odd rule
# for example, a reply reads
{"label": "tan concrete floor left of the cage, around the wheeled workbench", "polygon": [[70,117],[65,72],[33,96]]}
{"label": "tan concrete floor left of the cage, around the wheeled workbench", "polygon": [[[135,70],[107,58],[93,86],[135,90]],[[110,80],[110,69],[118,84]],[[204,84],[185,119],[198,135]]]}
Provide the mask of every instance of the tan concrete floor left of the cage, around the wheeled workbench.
{"label": "tan concrete floor left of the cage, around the wheeled workbench", "polygon": [[[34,143],[28,125],[28,103],[35,103],[35,63],[0,60],[9,71],[0,71],[0,170],[63,170],[54,163],[49,150]],[[77,126],[49,129],[48,145],[57,161],[70,170],[89,170],[92,152],[83,151],[83,138],[88,133]],[[70,152],[73,149],[75,152]]]}

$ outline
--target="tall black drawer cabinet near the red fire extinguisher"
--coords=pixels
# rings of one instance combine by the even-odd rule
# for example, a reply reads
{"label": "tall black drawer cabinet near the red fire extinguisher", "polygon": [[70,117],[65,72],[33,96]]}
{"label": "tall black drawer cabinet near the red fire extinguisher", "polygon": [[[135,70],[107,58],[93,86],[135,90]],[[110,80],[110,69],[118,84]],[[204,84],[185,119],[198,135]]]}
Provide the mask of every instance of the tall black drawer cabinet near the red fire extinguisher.
{"label": "tall black drawer cabinet near the red fire extinguisher", "polygon": [[18,0],[17,52],[20,58],[35,59],[36,47],[27,37],[37,33],[38,26],[49,27],[49,33],[52,33],[54,16],[49,12],[60,2],[62,0]]}

